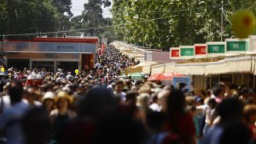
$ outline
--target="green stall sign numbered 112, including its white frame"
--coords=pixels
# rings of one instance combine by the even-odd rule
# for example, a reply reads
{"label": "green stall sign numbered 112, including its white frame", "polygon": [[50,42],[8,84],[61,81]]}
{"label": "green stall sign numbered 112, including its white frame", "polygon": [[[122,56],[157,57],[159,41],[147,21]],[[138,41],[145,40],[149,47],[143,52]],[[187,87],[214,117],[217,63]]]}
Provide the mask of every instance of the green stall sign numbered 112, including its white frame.
{"label": "green stall sign numbered 112, including its white frame", "polygon": [[207,44],[207,55],[216,56],[225,54],[225,42],[209,42]]}

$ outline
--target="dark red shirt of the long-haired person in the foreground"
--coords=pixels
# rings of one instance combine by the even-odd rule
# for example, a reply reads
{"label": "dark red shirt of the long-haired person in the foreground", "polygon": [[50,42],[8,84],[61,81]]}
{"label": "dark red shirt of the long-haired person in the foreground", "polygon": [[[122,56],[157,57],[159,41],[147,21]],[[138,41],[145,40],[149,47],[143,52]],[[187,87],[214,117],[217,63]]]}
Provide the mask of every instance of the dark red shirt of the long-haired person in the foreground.
{"label": "dark red shirt of the long-haired person in the foreground", "polygon": [[[196,130],[193,123],[193,118],[189,113],[176,114],[171,117],[167,123],[167,130],[179,134],[180,139],[184,143],[189,143],[191,136],[195,136]],[[174,123],[174,125],[171,124]]]}

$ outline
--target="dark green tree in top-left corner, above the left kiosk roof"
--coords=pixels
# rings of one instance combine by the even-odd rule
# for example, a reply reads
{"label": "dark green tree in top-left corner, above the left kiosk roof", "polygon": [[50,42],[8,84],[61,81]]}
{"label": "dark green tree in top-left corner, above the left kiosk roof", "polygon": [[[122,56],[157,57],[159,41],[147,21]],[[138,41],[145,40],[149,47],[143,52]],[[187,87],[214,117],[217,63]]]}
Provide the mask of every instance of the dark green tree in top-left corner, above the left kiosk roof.
{"label": "dark green tree in top-left corner, above the left kiosk roof", "polygon": [[58,12],[50,0],[2,0],[0,7],[0,34],[36,31],[39,33],[39,31],[54,31],[56,28]]}

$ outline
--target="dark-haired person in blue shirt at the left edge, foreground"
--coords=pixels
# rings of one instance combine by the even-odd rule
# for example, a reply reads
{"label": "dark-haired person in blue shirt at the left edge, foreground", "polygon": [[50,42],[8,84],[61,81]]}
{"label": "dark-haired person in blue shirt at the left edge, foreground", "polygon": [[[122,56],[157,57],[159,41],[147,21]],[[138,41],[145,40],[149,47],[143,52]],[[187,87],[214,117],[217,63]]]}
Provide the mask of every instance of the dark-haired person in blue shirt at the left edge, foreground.
{"label": "dark-haired person in blue shirt at the left edge, foreground", "polygon": [[22,118],[27,113],[28,104],[22,101],[23,88],[19,82],[11,82],[9,89],[11,107],[0,118],[0,137],[7,144],[25,143],[22,132]]}

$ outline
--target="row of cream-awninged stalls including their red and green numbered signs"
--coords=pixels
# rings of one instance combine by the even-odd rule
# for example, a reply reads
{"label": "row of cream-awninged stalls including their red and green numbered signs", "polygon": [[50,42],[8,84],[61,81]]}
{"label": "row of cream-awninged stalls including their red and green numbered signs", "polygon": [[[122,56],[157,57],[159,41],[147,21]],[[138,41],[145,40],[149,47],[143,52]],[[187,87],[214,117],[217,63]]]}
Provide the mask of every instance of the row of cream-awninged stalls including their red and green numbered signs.
{"label": "row of cream-awninged stalls including their red and green numbered signs", "polygon": [[[127,53],[128,48],[120,45],[119,47],[123,46],[122,52]],[[131,49],[128,51],[134,52]],[[225,82],[227,85],[246,84],[250,87],[256,85],[256,36],[172,47],[170,60],[180,60],[180,62],[145,61],[135,67],[127,68],[125,73],[186,75],[191,77],[191,84],[196,89],[210,88],[218,82]]]}

